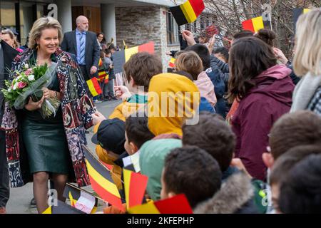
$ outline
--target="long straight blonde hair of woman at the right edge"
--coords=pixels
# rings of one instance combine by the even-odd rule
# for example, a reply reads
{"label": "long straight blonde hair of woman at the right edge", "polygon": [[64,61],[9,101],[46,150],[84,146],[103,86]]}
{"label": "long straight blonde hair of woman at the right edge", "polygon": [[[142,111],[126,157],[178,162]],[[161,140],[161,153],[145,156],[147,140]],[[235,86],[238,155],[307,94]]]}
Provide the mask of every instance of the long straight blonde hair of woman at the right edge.
{"label": "long straight blonde hair of woman at the right edge", "polygon": [[293,68],[297,76],[309,71],[321,75],[321,9],[313,9],[297,20]]}

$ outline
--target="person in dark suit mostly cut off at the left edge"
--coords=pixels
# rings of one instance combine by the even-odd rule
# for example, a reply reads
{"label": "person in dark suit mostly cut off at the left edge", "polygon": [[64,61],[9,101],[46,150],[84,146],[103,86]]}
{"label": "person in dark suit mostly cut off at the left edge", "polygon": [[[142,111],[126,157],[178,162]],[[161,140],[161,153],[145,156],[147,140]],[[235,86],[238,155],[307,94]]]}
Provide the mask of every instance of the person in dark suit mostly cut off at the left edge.
{"label": "person in dark suit mostly cut off at the left edge", "polygon": [[[19,52],[11,48],[5,41],[1,41],[0,24],[0,89],[4,88],[4,80],[9,79],[8,68]],[[4,95],[0,92],[0,125],[4,114]],[[6,213],[6,202],[10,195],[8,161],[6,159],[6,137],[0,129],[0,214]]]}

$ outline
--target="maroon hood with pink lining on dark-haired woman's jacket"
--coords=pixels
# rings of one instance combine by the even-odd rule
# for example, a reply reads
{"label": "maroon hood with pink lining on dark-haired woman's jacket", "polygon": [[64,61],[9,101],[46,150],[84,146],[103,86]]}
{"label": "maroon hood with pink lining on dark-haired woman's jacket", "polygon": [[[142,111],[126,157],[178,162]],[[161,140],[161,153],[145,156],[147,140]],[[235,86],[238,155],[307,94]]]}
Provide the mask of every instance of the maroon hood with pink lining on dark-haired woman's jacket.
{"label": "maroon hood with pink lining on dark-haired woman's jacket", "polygon": [[256,86],[250,89],[248,95],[267,95],[280,103],[290,106],[292,104],[292,92],[295,87],[289,76],[290,73],[291,70],[285,65],[275,65],[268,68],[253,79]]}

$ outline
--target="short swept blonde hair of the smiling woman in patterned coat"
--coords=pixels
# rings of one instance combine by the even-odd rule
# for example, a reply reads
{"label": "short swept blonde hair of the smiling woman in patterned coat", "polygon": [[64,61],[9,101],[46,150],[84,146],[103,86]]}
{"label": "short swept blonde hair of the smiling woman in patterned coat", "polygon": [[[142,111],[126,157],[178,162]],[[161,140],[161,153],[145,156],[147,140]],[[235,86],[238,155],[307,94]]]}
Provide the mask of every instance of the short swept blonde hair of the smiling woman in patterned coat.
{"label": "short swept blonde hair of the smiling woman in patterned coat", "polygon": [[40,38],[41,31],[43,31],[46,28],[56,28],[58,30],[58,40],[59,45],[61,44],[63,33],[61,30],[61,24],[56,19],[52,18],[51,16],[45,16],[41,17],[40,19],[36,20],[34,22],[34,25],[31,28],[31,31],[29,33],[29,48],[36,48],[37,43],[36,40]]}

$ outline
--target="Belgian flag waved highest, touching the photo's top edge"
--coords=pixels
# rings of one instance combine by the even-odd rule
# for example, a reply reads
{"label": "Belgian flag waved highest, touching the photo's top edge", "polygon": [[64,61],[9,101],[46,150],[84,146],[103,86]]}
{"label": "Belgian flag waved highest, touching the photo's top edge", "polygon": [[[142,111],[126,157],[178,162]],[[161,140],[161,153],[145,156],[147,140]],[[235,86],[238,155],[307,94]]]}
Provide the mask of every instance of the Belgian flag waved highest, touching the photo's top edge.
{"label": "Belgian flag waved highest, touching the photo's top edge", "polygon": [[178,26],[195,21],[205,9],[203,0],[188,0],[179,6],[170,7]]}

